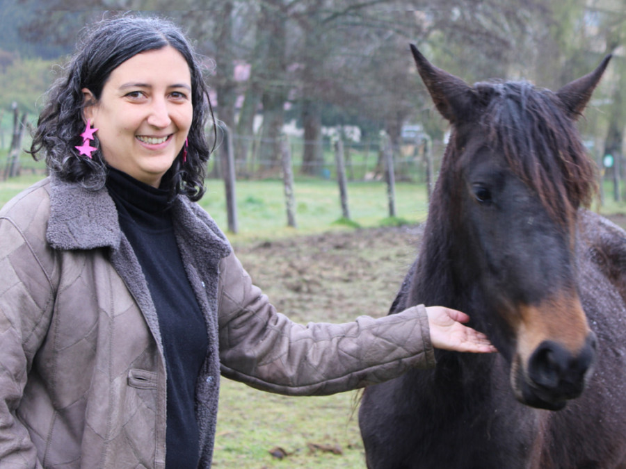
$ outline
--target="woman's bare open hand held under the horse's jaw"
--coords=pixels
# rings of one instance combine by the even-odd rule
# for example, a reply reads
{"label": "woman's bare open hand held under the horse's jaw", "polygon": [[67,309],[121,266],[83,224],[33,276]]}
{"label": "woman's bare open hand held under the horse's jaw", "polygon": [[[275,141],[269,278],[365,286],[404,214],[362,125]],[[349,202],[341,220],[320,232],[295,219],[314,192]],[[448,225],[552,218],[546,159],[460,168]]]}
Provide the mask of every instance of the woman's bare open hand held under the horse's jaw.
{"label": "woman's bare open hand held under the horse's jaw", "polygon": [[433,347],[456,352],[497,352],[485,334],[461,324],[470,320],[467,314],[444,306],[428,306],[426,313]]}

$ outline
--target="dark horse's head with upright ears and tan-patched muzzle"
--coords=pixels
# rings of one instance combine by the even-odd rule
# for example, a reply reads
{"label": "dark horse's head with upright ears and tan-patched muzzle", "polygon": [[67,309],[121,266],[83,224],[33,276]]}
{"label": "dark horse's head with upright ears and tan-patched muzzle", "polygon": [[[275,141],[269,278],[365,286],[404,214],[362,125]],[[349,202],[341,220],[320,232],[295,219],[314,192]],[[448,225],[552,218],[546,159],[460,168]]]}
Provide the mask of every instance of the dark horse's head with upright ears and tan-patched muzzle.
{"label": "dark horse's head with upright ears and tan-patched muzzle", "polygon": [[575,119],[609,58],[551,92],[525,82],[471,87],[411,49],[452,124],[429,223],[448,218],[454,284],[511,363],[517,399],[561,409],[584,390],[595,359],[575,257],[577,209],[595,178]]}

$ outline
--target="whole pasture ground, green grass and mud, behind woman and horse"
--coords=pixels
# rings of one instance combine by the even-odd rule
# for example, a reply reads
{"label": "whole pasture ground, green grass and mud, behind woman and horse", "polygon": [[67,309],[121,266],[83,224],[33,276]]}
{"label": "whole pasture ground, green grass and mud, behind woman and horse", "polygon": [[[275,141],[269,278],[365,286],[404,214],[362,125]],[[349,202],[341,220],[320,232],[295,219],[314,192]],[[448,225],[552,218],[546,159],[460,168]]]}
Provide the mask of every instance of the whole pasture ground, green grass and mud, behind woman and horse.
{"label": "whole pasture ground, green grass and mud, behind woman and horse", "polygon": [[[40,177],[0,182],[0,204]],[[202,204],[225,227],[222,183],[210,180],[207,188]],[[366,228],[350,229],[333,224],[341,213],[333,181],[296,181],[297,230],[285,227],[280,181],[241,181],[237,188],[241,233],[230,239],[279,311],[305,323],[386,314],[415,258],[417,223],[426,215],[423,186],[399,183],[397,212],[410,224],[380,227],[386,219],[384,184],[351,183],[353,218]],[[626,216],[611,219],[626,227]],[[364,468],[357,398],[284,397],[223,379],[214,466]],[[278,448],[287,453],[283,459],[270,454],[280,454]]]}

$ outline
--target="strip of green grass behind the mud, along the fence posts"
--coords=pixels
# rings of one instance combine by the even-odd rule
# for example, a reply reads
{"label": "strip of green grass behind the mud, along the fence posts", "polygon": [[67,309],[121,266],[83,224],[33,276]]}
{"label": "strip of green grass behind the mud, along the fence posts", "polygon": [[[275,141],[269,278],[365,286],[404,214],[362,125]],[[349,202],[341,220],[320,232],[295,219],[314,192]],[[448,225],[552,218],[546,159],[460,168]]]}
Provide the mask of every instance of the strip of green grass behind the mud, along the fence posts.
{"label": "strip of green grass behind the mud, along the fence posts", "polygon": [[[390,219],[387,192],[382,182],[348,183],[349,220],[342,217],[339,188],[332,180],[296,179],[296,224],[287,227],[287,211],[281,181],[239,181],[236,184],[239,232],[233,240],[277,238],[296,233],[319,233],[355,227],[421,222],[426,217],[426,188],[422,184],[396,183],[396,215]],[[222,181],[207,181],[200,204],[227,229]]]}

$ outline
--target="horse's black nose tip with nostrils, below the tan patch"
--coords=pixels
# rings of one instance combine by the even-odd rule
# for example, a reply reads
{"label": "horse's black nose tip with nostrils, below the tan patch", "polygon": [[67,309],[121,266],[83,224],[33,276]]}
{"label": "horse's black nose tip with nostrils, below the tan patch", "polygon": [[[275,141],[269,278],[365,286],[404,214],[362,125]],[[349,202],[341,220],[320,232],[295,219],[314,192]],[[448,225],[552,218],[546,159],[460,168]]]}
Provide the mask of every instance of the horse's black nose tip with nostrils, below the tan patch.
{"label": "horse's black nose tip with nostrils, below the tan patch", "polygon": [[597,340],[591,331],[584,346],[573,354],[559,343],[544,340],[524,367],[515,367],[516,395],[523,404],[557,411],[579,397],[593,372]]}

